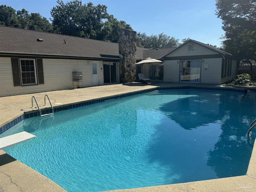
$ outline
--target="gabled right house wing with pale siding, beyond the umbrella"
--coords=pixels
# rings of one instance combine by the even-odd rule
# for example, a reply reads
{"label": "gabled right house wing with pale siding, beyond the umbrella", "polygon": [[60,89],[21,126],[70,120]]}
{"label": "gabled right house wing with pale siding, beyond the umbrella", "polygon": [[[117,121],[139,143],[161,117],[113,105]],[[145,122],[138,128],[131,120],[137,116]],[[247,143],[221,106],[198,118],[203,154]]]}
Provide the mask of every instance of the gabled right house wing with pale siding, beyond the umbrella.
{"label": "gabled right house wing with pale siding, beyond the umbrella", "polygon": [[168,49],[162,56],[157,54],[158,50],[144,50],[144,56],[151,55],[164,62],[163,66],[143,66],[146,78],[162,79],[164,82],[222,84],[236,76],[236,58],[214,46],[188,40]]}

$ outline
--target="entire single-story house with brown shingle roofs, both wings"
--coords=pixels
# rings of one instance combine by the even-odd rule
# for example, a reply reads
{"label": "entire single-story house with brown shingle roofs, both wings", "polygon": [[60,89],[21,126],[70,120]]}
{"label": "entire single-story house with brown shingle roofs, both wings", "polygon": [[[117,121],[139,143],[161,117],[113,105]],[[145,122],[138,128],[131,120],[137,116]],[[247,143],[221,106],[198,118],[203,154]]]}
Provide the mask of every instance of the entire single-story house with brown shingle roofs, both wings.
{"label": "entire single-story house with brown shingle roofs, both wings", "polygon": [[[120,54],[118,43],[100,40],[7,26],[0,26],[0,34],[0,96],[117,84],[122,60],[130,54]],[[152,80],[221,84],[236,74],[231,54],[195,40],[176,48],[133,50],[136,61],[163,61],[136,66]]]}

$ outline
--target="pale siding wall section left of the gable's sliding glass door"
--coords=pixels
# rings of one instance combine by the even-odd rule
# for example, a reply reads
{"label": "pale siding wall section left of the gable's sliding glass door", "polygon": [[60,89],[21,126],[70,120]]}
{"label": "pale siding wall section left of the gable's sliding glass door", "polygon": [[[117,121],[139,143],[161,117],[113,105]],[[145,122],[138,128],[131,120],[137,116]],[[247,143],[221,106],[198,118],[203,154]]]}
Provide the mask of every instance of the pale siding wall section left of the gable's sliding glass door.
{"label": "pale siding wall section left of the gable's sliding glass door", "polygon": [[164,82],[180,81],[180,60],[164,61]]}

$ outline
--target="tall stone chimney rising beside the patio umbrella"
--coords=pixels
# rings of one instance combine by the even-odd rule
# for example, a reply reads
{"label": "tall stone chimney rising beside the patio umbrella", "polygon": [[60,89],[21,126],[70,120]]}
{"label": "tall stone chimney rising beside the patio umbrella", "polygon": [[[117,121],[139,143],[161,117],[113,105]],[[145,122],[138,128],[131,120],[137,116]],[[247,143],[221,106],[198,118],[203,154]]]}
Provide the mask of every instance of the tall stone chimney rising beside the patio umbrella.
{"label": "tall stone chimney rising beside the patio umbrella", "polygon": [[120,83],[128,83],[136,77],[136,31],[130,25],[118,31],[119,54],[123,56],[119,64]]}

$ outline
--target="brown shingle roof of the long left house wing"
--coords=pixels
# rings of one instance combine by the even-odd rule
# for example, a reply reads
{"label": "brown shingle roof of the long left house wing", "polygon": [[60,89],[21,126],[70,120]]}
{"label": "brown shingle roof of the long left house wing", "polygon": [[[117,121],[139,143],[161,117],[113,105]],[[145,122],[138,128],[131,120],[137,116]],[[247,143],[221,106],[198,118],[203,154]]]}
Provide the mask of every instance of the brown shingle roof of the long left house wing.
{"label": "brown shingle roof of the long left house wing", "polygon": [[[118,44],[112,42],[6,26],[0,26],[0,34],[0,52],[2,53],[85,58],[118,57]],[[37,41],[38,38],[44,41]]]}

